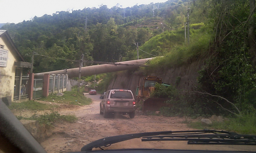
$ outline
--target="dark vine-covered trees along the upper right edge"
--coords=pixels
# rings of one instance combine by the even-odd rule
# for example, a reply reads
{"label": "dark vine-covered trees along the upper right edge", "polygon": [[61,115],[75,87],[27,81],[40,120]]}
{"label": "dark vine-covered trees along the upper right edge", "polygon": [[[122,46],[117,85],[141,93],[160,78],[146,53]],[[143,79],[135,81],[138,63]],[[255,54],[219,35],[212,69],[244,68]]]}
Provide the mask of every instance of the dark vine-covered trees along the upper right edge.
{"label": "dark vine-covered trees along the upper right edge", "polygon": [[248,0],[211,2],[215,39],[210,48],[211,61],[202,71],[213,85],[208,91],[230,99],[243,109],[251,104],[256,106],[255,102],[248,103],[247,100],[248,93],[256,87],[255,25],[248,23],[255,9],[255,0],[250,8]]}

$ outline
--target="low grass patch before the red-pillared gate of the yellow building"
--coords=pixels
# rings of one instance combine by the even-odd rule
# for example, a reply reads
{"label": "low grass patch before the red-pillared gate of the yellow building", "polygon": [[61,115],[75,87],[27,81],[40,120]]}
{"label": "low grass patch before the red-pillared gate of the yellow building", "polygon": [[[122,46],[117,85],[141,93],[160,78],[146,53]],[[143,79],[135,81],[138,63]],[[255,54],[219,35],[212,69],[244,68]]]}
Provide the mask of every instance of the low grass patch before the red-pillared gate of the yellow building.
{"label": "low grass patch before the red-pillared gate of the yellow building", "polygon": [[43,111],[43,110],[51,110],[54,106],[42,104],[40,102],[36,102],[33,100],[24,101],[20,103],[13,102],[9,109],[16,109],[16,110],[32,110],[32,111]]}

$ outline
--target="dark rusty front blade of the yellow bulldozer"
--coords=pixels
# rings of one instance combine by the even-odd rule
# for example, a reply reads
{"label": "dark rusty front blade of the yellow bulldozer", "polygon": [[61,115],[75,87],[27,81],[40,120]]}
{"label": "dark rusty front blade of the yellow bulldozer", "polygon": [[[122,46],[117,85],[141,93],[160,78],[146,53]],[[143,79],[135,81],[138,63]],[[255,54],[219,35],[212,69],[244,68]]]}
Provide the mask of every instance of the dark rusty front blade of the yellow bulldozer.
{"label": "dark rusty front blade of the yellow bulldozer", "polygon": [[165,103],[168,98],[147,98],[146,100],[143,101],[142,105],[142,111],[145,113],[146,111],[160,111],[161,107],[167,107],[168,104]]}

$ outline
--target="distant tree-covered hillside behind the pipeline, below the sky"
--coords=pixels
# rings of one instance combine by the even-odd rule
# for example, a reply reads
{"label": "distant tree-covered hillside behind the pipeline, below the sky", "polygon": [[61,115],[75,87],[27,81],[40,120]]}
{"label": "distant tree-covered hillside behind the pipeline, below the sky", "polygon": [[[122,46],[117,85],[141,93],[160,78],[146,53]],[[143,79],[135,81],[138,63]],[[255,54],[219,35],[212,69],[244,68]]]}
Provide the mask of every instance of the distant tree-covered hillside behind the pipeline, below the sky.
{"label": "distant tree-covered hillside behind the pipeline, below the sky", "polygon": [[[195,3],[195,2],[194,2]],[[165,30],[183,26],[191,2],[171,0],[121,8],[84,8],[6,24],[9,34],[28,62],[35,56],[34,72],[77,67],[85,60],[118,62],[133,58],[139,46]],[[195,19],[193,19],[195,20]],[[201,22],[196,19],[195,22]],[[45,56],[52,57],[46,58]],[[56,57],[56,58],[53,58]],[[66,59],[71,61],[60,60]]]}

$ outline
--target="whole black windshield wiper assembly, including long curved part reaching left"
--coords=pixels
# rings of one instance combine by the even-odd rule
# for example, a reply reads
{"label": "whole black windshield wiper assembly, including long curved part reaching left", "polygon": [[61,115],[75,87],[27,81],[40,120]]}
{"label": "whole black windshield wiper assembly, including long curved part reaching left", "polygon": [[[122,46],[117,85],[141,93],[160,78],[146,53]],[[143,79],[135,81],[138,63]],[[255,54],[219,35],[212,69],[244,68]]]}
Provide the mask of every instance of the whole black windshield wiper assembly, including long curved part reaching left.
{"label": "whole black windshield wiper assembly, including long curved part reaching left", "polygon": [[[102,138],[85,145],[81,151],[109,147],[114,143],[141,138],[142,141],[188,141],[188,145],[256,145],[255,135],[241,135],[218,130],[160,131],[118,135]],[[101,148],[102,149],[102,148]]]}

